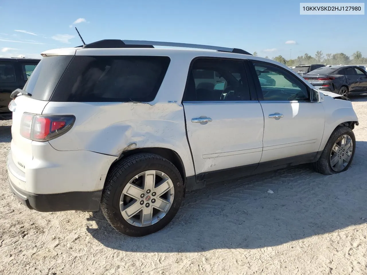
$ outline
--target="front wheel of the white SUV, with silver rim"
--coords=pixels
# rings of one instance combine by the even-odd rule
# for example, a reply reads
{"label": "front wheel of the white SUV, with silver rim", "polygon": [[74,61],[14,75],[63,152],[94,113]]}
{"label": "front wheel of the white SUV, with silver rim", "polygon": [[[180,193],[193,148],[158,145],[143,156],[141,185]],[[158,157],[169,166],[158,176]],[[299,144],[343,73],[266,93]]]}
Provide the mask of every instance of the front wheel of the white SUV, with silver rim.
{"label": "front wheel of the white SUV, with silver rim", "polygon": [[353,161],[356,138],[352,129],[339,126],[331,134],[318,161],[313,163],[316,172],[333,175],[348,170]]}

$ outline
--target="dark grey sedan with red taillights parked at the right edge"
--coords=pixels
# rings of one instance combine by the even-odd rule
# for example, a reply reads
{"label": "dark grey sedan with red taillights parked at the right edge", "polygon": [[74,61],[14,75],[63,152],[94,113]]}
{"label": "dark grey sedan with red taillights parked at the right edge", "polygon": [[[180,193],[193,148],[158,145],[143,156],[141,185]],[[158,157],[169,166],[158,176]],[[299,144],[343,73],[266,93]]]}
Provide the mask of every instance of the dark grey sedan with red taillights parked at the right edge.
{"label": "dark grey sedan with red taillights parked at the right edge", "polygon": [[327,66],[303,76],[316,89],[339,95],[367,92],[367,72],[359,66]]}

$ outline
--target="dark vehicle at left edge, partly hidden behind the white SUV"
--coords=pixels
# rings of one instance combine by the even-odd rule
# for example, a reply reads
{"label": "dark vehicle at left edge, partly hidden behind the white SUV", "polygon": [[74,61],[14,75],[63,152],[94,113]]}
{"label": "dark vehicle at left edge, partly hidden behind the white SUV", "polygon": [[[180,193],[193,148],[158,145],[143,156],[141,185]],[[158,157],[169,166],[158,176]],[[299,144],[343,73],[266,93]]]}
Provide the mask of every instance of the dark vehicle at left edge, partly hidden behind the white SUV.
{"label": "dark vehicle at left edge, partly hidden behind the white SUV", "polygon": [[0,58],[0,120],[11,119],[10,94],[23,88],[40,59]]}

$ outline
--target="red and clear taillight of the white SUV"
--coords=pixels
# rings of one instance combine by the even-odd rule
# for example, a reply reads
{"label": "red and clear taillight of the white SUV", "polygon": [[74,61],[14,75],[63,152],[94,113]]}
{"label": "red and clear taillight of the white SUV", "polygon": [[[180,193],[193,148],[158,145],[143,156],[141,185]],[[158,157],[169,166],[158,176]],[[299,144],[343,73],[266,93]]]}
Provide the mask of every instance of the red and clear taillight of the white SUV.
{"label": "red and clear taillight of the white SUV", "polygon": [[73,115],[36,115],[24,113],[21,119],[21,136],[35,141],[47,141],[61,136],[72,128]]}

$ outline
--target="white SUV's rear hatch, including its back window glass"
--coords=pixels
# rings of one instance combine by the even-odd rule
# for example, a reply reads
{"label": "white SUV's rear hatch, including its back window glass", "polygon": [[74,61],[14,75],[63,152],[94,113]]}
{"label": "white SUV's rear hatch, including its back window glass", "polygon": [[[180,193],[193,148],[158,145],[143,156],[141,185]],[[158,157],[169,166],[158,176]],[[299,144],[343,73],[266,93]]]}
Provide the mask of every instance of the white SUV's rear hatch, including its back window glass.
{"label": "white SUV's rear hatch, including its back window glass", "polygon": [[[24,113],[42,114],[44,107],[50,100],[62,74],[65,72],[73,56],[49,56],[43,58],[34,69],[32,75],[23,88],[31,96],[19,94],[12,102],[13,121],[11,126],[11,153],[15,165],[23,172],[33,159],[32,140],[23,137],[21,126]],[[21,125],[22,124],[22,125]],[[28,122],[30,124],[30,122]]]}

